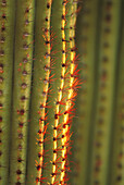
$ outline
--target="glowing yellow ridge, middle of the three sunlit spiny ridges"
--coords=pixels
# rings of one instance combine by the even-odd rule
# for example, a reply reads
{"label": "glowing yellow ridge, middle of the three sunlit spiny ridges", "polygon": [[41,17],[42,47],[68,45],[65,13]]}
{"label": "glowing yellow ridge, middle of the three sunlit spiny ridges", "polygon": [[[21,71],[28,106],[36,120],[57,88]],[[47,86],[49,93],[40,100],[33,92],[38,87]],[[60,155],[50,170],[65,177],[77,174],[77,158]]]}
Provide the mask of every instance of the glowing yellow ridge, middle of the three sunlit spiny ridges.
{"label": "glowing yellow ridge, middle of the three sunlit spiny ridges", "polygon": [[[61,38],[59,38],[60,40],[62,40],[60,42],[61,45],[61,50],[59,52],[62,52],[62,59],[60,58],[60,62],[62,64],[62,70],[61,70],[61,75],[59,75],[59,78],[61,78],[60,81],[60,85],[59,85],[59,92],[58,92],[58,97],[57,97],[57,102],[61,102],[62,101],[62,97],[63,97],[63,88],[64,88],[64,83],[65,83],[65,65],[66,65],[66,59],[65,59],[65,7],[66,7],[66,2],[65,3],[62,3],[61,1],[61,4],[62,4],[62,14],[61,14],[61,18],[62,21],[60,22],[60,33],[61,33]],[[55,3],[54,3],[55,5]],[[54,21],[54,20],[53,20]],[[53,23],[53,22],[52,22]],[[62,29],[61,29],[62,28]],[[58,61],[59,61],[58,60]],[[57,103],[55,102],[55,110],[54,110],[54,130],[53,130],[53,150],[57,151],[58,148],[59,148],[59,143],[58,141],[58,135],[59,135],[59,132],[57,130],[57,127],[59,126],[59,122],[60,122],[60,103]],[[57,182],[58,180],[57,178],[57,173],[58,173],[58,166],[57,165],[57,161],[58,161],[58,152],[53,152],[53,166],[52,166],[52,177],[51,177],[51,184],[54,184],[54,182]],[[59,184],[59,182],[58,182]]]}

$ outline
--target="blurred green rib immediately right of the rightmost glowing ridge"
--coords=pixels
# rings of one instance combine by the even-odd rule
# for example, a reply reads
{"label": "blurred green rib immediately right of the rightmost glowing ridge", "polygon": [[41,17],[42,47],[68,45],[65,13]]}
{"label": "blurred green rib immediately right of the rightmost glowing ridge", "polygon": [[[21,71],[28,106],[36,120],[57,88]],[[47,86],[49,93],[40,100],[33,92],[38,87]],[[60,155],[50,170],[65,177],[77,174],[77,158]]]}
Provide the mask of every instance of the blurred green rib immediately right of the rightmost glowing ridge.
{"label": "blurred green rib immediately right of the rightmost glowing ridge", "polygon": [[[98,7],[99,1],[83,1],[79,4],[82,8],[78,16],[77,16],[77,48],[78,48],[78,58],[80,70],[80,78],[83,79],[82,88],[78,90],[77,100],[75,103],[76,115],[78,118],[74,118],[72,132],[74,133],[72,136],[73,148],[71,161],[71,173],[70,175],[74,175],[75,178],[70,177],[70,184],[87,184],[87,171],[88,171],[88,162],[89,162],[89,141],[90,141],[90,130],[92,130],[91,118],[94,115],[92,107],[95,107],[95,90],[97,87],[96,83],[96,73],[97,73],[97,52],[98,51]],[[99,9],[100,10],[100,9]],[[96,73],[95,73],[96,72]],[[91,106],[92,104],[92,106]],[[76,124],[75,124],[76,123]],[[78,125],[78,126],[77,126]],[[83,137],[83,138],[80,138]],[[76,139],[78,138],[78,141]],[[78,145],[78,146],[77,146]],[[82,145],[82,147],[80,147]],[[78,152],[78,149],[82,149]],[[77,172],[79,162],[79,172]],[[76,168],[75,168],[76,166]],[[73,170],[74,169],[74,170]],[[79,176],[76,177],[78,173]]]}

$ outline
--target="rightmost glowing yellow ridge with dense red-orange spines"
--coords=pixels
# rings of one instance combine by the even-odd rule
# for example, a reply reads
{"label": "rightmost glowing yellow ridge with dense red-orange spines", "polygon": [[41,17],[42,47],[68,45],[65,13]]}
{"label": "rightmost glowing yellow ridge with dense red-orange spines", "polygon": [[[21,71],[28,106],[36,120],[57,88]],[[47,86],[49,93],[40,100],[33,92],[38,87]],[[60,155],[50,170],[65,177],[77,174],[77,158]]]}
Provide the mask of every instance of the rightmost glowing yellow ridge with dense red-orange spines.
{"label": "rightmost glowing yellow ridge with dense red-orange spines", "polygon": [[[70,70],[70,84],[69,84],[69,94],[67,94],[67,100],[65,103],[65,112],[64,112],[64,118],[63,118],[63,131],[62,131],[62,135],[64,136],[62,138],[62,146],[63,146],[63,150],[62,150],[62,159],[65,159],[67,156],[67,143],[70,140],[70,125],[66,124],[70,120],[70,110],[72,109],[72,102],[73,102],[73,98],[75,96],[74,91],[76,88],[76,83],[77,83],[77,77],[74,76],[75,73],[75,21],[76,21],[76,9],[77,9],[77,4],[73,2],[73,5],[71,7],[71,18],[70,18],[70,38],[72,38],[70,40],[70,59],[71,59],[71,70]],[[61,172],[61,182],[63,181],[63,178],[65,177],[65,165],[66,165],[66,161],[63,160],[62,161],[62,172]]]}

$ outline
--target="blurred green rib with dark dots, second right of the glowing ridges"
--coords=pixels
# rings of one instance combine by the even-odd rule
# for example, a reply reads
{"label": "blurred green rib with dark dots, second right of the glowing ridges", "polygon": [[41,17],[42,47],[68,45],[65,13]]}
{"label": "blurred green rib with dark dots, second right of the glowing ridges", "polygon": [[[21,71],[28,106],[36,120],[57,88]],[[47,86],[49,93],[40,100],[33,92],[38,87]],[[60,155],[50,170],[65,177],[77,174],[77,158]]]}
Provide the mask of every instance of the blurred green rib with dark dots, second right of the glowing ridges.
{"label": "blurred green rib with dark dots, second right of the glowing ridges", "polygon": [[[92,161],[90,184],[107,184],[109,148],[112,128],[112,111],[114,102],[114,82],[116,66],[116,48],[120,27],[120,1],[107,0],[102,5],[100,53],[99,53],[99,85],[97,110],[95,118],[95,135],[92,143]],[[102,99],[101,97],[104,97]]]}

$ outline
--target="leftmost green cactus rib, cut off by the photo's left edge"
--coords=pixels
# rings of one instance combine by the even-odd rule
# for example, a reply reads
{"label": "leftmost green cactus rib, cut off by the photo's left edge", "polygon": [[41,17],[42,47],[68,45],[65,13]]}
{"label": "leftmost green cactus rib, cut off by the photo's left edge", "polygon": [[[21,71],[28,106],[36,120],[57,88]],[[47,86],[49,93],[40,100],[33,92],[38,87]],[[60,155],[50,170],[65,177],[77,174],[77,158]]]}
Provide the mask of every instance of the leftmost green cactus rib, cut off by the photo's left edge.
{"label": "leftmost green cactus rib, cut off by the photo's left edge", "polygon": [[14,0],[0,0],[0,184],[9,177],[9,143],[11,122]]}

